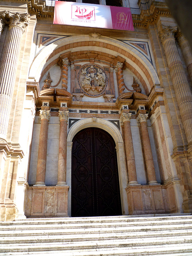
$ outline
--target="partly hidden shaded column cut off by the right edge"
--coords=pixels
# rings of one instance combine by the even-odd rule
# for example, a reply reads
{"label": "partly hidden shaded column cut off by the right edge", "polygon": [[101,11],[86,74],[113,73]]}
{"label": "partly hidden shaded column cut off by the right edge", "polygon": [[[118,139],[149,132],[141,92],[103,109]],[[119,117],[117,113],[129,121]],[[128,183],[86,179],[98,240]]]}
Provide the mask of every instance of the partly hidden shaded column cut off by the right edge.
{"label": "partly hidden shaded column cut off by the right edge", "polygon": [[186,68],[187,68],[190,80],[192,82],[192,52],[191,52],[188,40],[184,37],[184,35],[180,31],[177,32],[176,38],[182,50],[182,54],[184,56],[184,60],[186,63]]}

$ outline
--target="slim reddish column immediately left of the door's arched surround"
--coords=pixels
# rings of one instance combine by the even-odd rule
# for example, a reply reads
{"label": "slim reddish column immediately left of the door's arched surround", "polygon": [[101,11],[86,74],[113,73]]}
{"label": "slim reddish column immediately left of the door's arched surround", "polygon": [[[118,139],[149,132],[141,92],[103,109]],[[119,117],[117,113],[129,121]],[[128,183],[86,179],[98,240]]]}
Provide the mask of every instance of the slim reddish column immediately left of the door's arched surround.
{"label": "slim reddish column immediately left of the door's arched surround", "polygon": [[68,111],[59,111],[60,135],[59,135],[59,160],[58,160],[58,182],[56,186],[66,186],[67,172],[67,121]]}

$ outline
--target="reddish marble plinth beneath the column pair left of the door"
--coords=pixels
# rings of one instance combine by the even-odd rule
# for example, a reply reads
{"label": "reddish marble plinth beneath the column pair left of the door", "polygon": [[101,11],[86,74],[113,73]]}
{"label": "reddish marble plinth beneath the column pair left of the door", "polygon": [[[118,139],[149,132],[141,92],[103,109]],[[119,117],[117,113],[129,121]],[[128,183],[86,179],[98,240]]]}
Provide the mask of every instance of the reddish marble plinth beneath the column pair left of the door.
{"label": "reddish marble plinth beneath the column pair left of the door", "polygon": [[25,215],[29,218],[68,217],[68,186],[29,187]]}

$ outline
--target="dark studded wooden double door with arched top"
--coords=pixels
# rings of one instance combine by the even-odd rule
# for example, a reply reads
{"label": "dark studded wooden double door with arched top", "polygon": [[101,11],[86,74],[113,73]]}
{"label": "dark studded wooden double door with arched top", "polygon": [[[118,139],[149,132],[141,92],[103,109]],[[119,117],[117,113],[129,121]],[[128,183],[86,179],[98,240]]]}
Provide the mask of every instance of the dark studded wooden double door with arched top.
{"label": "dark studded wooden double door with arched top", "polygon": [[86,128],[72,146],[72,216],[122,215],[115,142],[102,129]]}

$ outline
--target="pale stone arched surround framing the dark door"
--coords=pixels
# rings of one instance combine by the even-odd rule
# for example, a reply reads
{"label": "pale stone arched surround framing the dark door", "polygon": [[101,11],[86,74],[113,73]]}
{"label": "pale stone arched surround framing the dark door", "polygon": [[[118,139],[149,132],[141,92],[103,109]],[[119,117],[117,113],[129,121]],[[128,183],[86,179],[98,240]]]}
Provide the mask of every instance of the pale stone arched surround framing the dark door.
{"label": "pale stone arched surround framing the dark door", "polygon": [[[108,132],[115,141],[117,162],[118,162],[118,174],[120,182],[120,194],[121,194],[121,204],[122,213],[128,214],[128,203],[127,194],[125,188],[127,187],[128,178],[126,171],[126,162],[124,155],[124,144],[120,131],[118,128],[109,122],[108,120],[103,120],[101,118],[86,118],[77,121],[69,130],[67,137],[67,184],[70,186],[68,195],[68,206],[71,202],[71,153],[72,153],[72,140],[80,130],[88,127],[97,127]],[[70,215],[70,207],[68,214]]]}

